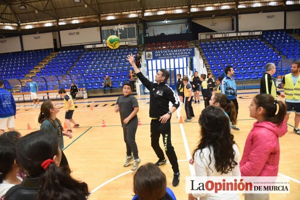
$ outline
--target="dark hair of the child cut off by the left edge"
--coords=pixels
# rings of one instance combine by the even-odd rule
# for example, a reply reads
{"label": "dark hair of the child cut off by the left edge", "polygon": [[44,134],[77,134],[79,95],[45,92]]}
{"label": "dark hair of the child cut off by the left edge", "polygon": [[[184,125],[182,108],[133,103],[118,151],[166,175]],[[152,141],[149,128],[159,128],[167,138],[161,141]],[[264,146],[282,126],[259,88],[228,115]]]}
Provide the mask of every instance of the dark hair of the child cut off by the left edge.
{"label": "dark hair of the child cut off by the left edge", "polygon": [[0,138],[0,160],[0,183],[2,183],[16,160],[16,143],[9,138]]}

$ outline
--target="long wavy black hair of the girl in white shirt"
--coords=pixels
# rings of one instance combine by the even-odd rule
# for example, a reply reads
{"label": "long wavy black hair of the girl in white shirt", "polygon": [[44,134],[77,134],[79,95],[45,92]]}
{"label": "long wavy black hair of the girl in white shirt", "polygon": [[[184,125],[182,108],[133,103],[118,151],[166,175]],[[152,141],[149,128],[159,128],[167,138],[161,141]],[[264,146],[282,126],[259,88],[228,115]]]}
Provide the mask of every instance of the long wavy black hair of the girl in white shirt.
{"label": "long wavy black hair of the girl in white shirt", "polygon": [[193,151],[193,157],[197,150],[200,150],[200,154],[202,154],[202,149],[208,147],[210,151],[210,162],[208,165],[211,163],[210,155],[212,149],[216,161],[214,166],[217,172],[227,174],[227,172],[231,171],[238,163],[234,160],[235,151],[233,150],[233,144],[235,144],[235,141],[233,140],[233,135],[230,133],[228,126],[229,121],[224,110],[217,106],[208,106],[202,110],[198,122],[201,127],[201,139],[197,148]]}

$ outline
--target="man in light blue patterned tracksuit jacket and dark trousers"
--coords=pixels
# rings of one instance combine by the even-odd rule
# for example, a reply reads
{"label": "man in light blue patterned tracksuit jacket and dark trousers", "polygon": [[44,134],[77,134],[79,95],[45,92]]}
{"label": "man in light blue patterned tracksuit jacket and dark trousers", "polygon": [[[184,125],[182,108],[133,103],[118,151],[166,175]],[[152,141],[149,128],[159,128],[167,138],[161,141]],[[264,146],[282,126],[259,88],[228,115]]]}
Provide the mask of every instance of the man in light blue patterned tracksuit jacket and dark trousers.
{"label": "man in light blue patterned tracksuit jacket and dark trousers", "polygon": [[[225,94],[227,99],[233,102],[235,105],[236,110],[236,117],[238,117],[238,101],[236,99],[237,91],[236,91],[236,84],[234,78],[232,76],[234,75],[234,70],[232,66],[225,67],[225,74],[226,76],[221,81],[220,90],[221,93]],[[239,131],[240,129],[234,125],[231,125],[231,128],[235,129],[236,131]]]}

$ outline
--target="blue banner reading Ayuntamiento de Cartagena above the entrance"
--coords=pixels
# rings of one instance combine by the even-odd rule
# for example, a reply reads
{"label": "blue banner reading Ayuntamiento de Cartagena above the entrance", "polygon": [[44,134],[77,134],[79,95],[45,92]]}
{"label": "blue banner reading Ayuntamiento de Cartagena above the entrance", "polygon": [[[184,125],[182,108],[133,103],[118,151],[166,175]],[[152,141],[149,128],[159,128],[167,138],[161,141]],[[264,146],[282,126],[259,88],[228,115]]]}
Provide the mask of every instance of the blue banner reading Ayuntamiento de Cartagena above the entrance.
{"label": "blue banner reading Ayuntamiento de Cartagena above the entrance", "polygon": [[194,48],[146,51],[146,60],[193,57],[194,55]]}

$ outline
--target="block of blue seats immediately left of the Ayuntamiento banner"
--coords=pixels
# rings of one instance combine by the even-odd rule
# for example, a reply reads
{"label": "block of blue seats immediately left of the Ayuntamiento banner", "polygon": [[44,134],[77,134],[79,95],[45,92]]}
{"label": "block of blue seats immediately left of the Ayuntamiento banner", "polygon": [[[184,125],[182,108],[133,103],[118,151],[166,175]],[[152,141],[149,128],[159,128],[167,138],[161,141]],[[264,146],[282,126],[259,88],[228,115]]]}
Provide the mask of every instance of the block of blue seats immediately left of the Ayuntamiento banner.
{"label": "block of blue seats immediately left of the Ayuntamiento banner", "polygon": [[124,82],[129,80],[129,70],[132,69],[125,58],[128,54],[137,54],[138,50],[138,48],[119,48],[87,51],[69,74],[83,74],[88,90],[102,89],[106,75],[110,76],[113,88],[122,87]]}

